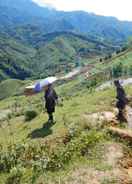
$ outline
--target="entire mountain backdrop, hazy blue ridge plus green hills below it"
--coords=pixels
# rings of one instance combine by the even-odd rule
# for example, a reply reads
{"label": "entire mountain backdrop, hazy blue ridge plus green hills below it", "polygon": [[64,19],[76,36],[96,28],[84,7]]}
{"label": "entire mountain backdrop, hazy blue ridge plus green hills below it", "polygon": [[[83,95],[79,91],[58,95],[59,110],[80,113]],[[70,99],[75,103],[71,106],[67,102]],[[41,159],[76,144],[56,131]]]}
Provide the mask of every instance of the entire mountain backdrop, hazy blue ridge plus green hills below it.
{"label": "entire mountain backdrop, hazy blue ridge plus green hills below it", "polygon": [[120,46],[131,35],[132,22],[56,11],[31,0],[1,0],[0,80],[60,72],[75,64],[80,51],[84,59],[109,54],[112,44]]}

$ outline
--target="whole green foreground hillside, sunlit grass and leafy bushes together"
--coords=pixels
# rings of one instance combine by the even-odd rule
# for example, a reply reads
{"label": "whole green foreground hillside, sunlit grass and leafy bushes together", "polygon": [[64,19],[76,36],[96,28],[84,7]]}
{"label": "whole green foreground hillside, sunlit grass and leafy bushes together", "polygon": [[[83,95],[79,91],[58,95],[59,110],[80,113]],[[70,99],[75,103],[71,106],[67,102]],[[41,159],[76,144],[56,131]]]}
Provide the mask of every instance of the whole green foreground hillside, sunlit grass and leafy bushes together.
{"label": "whole green foreground hillside, sunlit grass and leafy bushes together", "polygon": [[[123,174],[122,163],[124,158],[130,158],[130,146],[107,132],[109,123],[89,119],[89,114],[114,111],[114,89],[93,88],[91,92],[86,86],[82,88],[77,81],[71,81],[57,87],[64,99],[63,105],[57,107],[53,126],[46,122],[43,94],[0,102],[2,110],[11,109],[10,114],[1,117],[2,184],[87,183],[92,175],[101,184],[129,180]],[[126,90],[132,95],[131,87]],[[36,114],[31,121],[25,121],[29,109]],[[109,149],[119,151],[117,155],[114,153],[117,158],[111,156]]]}

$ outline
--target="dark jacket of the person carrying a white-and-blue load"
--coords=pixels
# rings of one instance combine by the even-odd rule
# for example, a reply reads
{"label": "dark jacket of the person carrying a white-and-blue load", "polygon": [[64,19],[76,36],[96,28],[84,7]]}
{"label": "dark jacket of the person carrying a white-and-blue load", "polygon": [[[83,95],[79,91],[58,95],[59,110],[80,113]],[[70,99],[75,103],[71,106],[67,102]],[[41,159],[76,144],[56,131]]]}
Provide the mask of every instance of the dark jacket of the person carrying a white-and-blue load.
{"label": "dark jacket of the person carrying a white-and-blue load", "polygon": [[45,92],[45,108],[47,109],[48,113],[55,112],[55,105],[56,105],[57,99],[58,99],[58,96],[53,88],[49,88]]}

